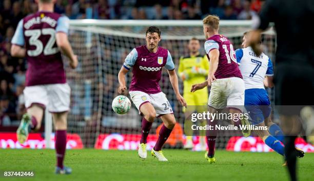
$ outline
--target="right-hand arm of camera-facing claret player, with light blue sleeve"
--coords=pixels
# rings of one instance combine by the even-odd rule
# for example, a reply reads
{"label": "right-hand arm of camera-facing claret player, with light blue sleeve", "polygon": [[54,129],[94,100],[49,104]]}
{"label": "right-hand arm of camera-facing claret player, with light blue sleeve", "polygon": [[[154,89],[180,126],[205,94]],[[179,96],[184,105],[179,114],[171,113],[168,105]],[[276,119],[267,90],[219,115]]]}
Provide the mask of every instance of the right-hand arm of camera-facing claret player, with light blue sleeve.
{"label": "right-hand arm of camera-facing claret player, with light blue sleeve", "polygon": [[176,96],[176,99],[181,103],[181,105],[186,107],[185,99],[181,96],[181,94],[179,92],[178,76],[175,73],[174,63],[172,61],[172,58],[171,58],[169,51],[168,51],[167,62],[166,62],[165,67],[168,71],[169,79],[170,79],[172,88],[174,90],[174,94]]}

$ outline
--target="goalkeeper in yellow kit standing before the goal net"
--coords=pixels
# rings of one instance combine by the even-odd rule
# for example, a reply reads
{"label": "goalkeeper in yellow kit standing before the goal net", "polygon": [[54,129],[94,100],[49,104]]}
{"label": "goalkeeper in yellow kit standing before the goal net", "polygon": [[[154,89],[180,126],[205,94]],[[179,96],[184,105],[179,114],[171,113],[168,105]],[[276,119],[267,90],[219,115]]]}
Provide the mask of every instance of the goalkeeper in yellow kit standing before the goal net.
{"label": "goalkeeper in yellow kit standing before the goal net", "polygon": [[[189,107],[204,107],[207,105],[208,101],[207,87],[194,93],[191,93],[190,89],[193,84],[204,82],[206,80],[209,70],[209,62],[206,55],[200,54],[200,41],[197,38],[190,39],[188,49],[189,55],[186,57],[181,57],[179,64],[179,76],[182,79],[184,85],[183,97]],[[196,107],[195,110],[192,111],[196,111]],[[187,116],[188,115],[186,114],[186,118]],[[188,124],[188,122],[186,122],[186,124]],[[191,134],[192,133],[188,133],[188,136],[186,137],[186,143],[184,145],[185,149],[193,148],[192,137],[190,136]],[[205,133],[203,135],[205,135]],[[200,149],[206,150],[205,137],[200,137]]]}

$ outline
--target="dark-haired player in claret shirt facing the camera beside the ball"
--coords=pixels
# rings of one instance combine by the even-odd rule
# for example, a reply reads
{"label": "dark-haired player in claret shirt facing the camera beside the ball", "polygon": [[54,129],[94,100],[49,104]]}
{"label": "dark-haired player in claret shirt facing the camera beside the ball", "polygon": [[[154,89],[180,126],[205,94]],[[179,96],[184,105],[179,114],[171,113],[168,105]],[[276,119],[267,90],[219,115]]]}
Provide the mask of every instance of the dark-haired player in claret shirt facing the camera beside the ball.
{"label": "dark-haired player in claret shirt facing the camera beside the ball", "polygon": [[162,146],[167,141],[174,125],[175,118],[166,95],[161,91],[159,81],[162,75],[162,67],[166,67],[176,99],[186,106],[184,98],[179,93],[178,77],[174,70],[170,52],[167,49],[158,47],[161,40],[161,31],[155,26],[148,27],[146,31],[146,44],[134,48],[126,57],[123,66],[118,74],[119,93],[126,90],[125,75],[132,69],[133,77],[130,85],[130,96],[143,114],[142,138],[139,144],[138,154],[146,159],[146,140],[155,117],[160,117],[164,122],[159,132],[156,145],[151,150],[152,156],[159,161],[168,161],[162,152]]}

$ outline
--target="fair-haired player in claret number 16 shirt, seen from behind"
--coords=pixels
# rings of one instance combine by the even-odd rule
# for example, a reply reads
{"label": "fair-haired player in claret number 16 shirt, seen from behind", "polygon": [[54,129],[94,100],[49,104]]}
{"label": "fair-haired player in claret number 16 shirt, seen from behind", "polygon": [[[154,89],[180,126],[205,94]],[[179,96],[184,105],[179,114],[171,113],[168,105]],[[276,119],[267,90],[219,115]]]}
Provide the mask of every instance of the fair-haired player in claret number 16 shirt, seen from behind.
{"label": "fair-haired player in claret number 16 shirt, seen from behind", "polygon": [[[218,33],[219,17],[208,15],[203,19],[205,51],[209,59],[208,80],[203,83],[192,85],[191,92],[211,85],[208,106],[209,112],[220,112],[225,107],[229,108],[232,120],[237,122],[244,107],[244,81],[235,58],[233,46],[229,39]],[[209,120],[209,124],[215,126],[218,120]],[[243,119],[241,122],[244,121]],[[244,135],[249,131],[242,130]],[[217,130],[207,130],[208,152],[205,158],[209,163],[215,163],[214,148]]]}

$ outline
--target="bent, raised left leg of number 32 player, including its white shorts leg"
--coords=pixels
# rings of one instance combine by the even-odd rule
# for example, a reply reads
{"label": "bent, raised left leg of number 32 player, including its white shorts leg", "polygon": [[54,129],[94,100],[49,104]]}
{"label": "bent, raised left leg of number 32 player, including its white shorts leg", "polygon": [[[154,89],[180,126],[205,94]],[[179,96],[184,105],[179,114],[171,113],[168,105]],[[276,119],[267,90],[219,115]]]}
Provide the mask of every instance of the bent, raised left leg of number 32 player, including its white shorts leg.
{"label": "bent, raised left leg of number 32 player, including its white shorts leg", "polygon": [[30,129],[38,130],[41,128],[44,108],[48,104],[47,91],[44,85],[25,87],[24,96],[27,112],[23,115],[16,131],[17,140],[21,144],[27,140]]}

